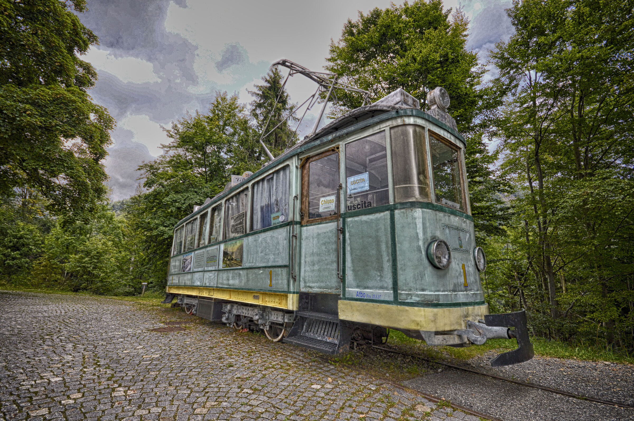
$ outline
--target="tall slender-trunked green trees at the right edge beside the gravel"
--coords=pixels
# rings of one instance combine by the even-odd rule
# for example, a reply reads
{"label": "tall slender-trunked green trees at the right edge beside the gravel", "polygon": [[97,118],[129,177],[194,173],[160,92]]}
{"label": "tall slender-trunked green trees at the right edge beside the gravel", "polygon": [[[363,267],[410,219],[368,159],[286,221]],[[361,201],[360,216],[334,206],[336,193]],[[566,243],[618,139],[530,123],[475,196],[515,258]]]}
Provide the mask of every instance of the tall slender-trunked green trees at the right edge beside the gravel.
{"label": "tall slender-trunked green trees at the right edge beside the gravel", "polygon": [[517,188],[509,229],[521,253],[491,282],[507,295],[523,284],[549,336],[601,331],[632,349],[633,256],[616,247],[634,223],[631,4],[515,1],[508,16],[515,35],[491,54],[505,97],[491,134]]}

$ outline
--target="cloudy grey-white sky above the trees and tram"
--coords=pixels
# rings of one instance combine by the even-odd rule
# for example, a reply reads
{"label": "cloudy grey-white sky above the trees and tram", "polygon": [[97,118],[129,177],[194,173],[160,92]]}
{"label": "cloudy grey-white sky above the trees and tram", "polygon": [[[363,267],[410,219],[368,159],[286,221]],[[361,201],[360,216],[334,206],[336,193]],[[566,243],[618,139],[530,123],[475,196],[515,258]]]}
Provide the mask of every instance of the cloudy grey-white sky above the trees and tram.
{"label": "cloudy grey-white sky above the trees and tram", "polygon": [[[136,168],[162,153],[169,142],[161,126],[188,111],[204,112],[217,91],[236,93],[261,82],[280,58],[312,70],[326,64],[331,40],[359,11],[387,8],[385,0],[210,1],[88,0],[82,23],[100,39],[82,56],[98,72],[90,94],[117,121],[105,161],[111,199],[129,198],[138,189]],[[489,49],[512,35],[504,9],[510,0],[446,0],[470,18],[469,49],[486,61]],[[495,69],[492,69],[492,73]],[[491,76],[489,74],[489,76]],[[292,101],[302,103],[316,85],[297,76],[287,84]],[[317,113],[318,107],[311,111]],[[307,115],[298,131],[308,130]]]}

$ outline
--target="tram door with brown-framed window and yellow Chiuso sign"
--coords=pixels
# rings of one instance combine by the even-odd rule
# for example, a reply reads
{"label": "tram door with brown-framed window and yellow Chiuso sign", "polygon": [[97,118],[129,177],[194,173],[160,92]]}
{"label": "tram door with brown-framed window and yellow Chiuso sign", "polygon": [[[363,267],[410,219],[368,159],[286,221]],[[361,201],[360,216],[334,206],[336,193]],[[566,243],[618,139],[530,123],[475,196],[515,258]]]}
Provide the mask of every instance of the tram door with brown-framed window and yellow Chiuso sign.
{"label": "tram door with brown-framed window and yellow Chiuso sign", "polygon": [[311,156],[302,166],[302,292],[341,293],[337,277],[339,151]]}

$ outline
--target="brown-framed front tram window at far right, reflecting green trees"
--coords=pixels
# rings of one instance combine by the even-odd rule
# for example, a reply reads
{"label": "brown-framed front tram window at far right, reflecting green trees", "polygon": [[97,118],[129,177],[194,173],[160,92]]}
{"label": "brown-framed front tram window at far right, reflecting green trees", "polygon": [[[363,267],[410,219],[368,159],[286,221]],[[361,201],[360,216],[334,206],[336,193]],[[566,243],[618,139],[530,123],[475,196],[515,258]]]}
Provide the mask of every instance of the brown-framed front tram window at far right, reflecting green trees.
{"label": "brown-framed front tram window at far right, reflecting green trees", "polygon": [[434,132],[429,132],[429,152],[434,171],[436,203],[464,210],[459,149],[443,141]]}

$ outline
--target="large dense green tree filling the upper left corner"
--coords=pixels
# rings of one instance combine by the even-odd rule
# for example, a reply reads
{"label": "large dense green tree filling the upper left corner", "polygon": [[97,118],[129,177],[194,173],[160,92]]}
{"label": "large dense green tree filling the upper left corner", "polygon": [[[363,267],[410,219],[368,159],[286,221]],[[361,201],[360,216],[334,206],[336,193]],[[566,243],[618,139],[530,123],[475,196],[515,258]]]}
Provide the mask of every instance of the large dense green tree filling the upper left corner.
{"label": "large dense green tree filling the upper left corner", "polygon": [[87,94],[96,72],[79,58],[97,44],[74,13],[86,2],[0,0],[0,9],[0,194],[29,187],[63,218],[85,217],[107,192],[101,160],[113,127]]}

